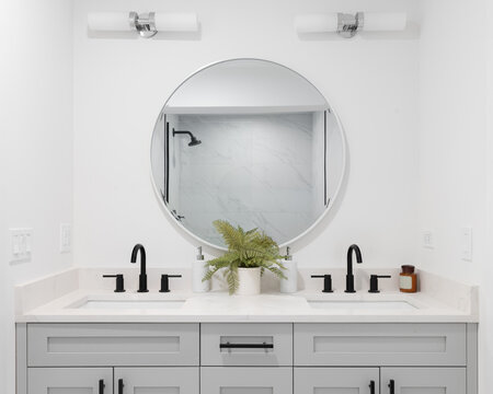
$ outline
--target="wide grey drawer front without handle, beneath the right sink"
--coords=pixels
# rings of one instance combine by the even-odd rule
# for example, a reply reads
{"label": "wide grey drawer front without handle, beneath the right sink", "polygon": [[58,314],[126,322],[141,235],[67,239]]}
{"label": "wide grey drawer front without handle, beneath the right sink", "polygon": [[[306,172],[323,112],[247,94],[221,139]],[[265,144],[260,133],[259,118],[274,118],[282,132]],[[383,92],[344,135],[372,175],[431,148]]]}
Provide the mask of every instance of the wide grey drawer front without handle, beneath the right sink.
{"label": "wide grey drawer front without handle, beneath the right sink", "polygon": [[465,364],[465,324],[295,324],[295,366]]}

